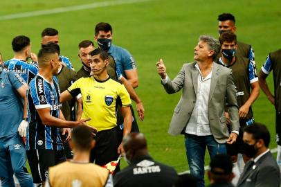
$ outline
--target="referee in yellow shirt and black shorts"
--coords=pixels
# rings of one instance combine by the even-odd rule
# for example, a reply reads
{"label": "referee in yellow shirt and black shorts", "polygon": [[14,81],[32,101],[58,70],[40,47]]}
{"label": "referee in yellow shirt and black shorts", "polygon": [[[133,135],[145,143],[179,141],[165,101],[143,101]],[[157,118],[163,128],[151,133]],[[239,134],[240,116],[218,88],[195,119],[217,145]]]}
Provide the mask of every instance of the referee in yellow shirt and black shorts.
{"label": "referee in yellow shirt and black shorts", "polygon": [[[60,103],[82,95],[82,118],[91,118],[89,125],[96,127],[96,147],[91,150],[90,161],[104,166],[118,159],[123,153],[123,145],[118,141],[118,126],[116,125],[116,109],[121,105],[124,117],[123,136],[132,128],[131,100],[123,84],[109,77],[107,66],[109,55],[101,48],[91,52],[91,71],[93,76],[80,78],[67,91],[60,95]],[[116,170],[120,170],[119,167]]]}

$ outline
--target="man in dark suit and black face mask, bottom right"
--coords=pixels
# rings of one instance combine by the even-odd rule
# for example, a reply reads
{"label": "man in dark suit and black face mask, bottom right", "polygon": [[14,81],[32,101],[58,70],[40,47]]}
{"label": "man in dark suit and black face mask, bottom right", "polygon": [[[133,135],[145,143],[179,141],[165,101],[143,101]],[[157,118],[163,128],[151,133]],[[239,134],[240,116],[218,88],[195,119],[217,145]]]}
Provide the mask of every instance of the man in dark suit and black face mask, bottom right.
{"label": "man in dark suit and black face mask, bottom right", "polygon": [[270,134],[265,125],[246,126],[244,153],[253,158],[246,163],[237,187],[280,187],[280,170],[269,150]]}

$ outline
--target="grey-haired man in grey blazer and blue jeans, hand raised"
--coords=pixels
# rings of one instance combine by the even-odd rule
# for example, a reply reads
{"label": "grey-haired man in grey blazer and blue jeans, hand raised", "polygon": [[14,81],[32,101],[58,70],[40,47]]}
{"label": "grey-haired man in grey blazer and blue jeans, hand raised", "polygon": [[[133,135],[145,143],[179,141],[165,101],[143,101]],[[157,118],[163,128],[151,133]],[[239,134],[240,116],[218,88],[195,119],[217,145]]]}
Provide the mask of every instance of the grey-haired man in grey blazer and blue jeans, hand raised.
{"label": "grey-haired man in grey blazer and blue jeans, hand raised", "polygon": [[[236,90],[232,71],[213,62],[220,50],[217,39],[201,35],[194,48],[196,62],[183,64],[181,71],[170,80],[163,60],[156,63],[163,87],[168,94],[183,88],[174,109],[169,133],[185,134],[185,148],[191,175],[204,186],[204,157],[206,147],[210,158],[226,154],[226,142],[234,143],[239,133]],[[225,106],[230,116],[231,132],[226,126]]]}

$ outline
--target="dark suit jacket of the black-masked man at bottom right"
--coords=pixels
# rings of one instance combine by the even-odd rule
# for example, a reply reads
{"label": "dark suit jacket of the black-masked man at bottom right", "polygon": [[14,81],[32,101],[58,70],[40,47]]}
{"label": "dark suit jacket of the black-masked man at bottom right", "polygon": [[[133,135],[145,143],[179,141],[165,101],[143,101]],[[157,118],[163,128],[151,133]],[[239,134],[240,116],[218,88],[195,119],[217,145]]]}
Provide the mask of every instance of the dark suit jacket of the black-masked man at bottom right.
{"label": "dark suit jacket of the black-masked man at bottom right", "polygon": [[280,187],[280,170],[271,152],[267,152],[255,164],[248,161],[237,187]]}

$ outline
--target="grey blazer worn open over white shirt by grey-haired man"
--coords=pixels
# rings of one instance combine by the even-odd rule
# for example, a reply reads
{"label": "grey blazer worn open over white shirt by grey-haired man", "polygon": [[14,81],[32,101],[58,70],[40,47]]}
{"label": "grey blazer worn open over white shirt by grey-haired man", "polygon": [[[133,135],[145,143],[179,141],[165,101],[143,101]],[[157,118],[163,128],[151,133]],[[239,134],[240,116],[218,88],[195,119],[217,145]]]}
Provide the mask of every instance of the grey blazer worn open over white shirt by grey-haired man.
{"label": "grey blazer worn open over white shirt by grey-haired man", "polygon": [[[197,78],[199,71],[195,67],[197,62],[183,64],[181,71],[174,80],[168,78],[163,87],[167,94],[174,94],[183,88],[183,94],[174,109],[174,115],[168,132],[178,135],[184,132],[197,99]],[[208,118],[210,130],[218,143],[226,143],[229,137],[226,126],[225,107],[228,107],[231,130],[239,131],[239,116],[236,100],[236,89],[231,69],[213,63],[210,95],[208,103]]]}

